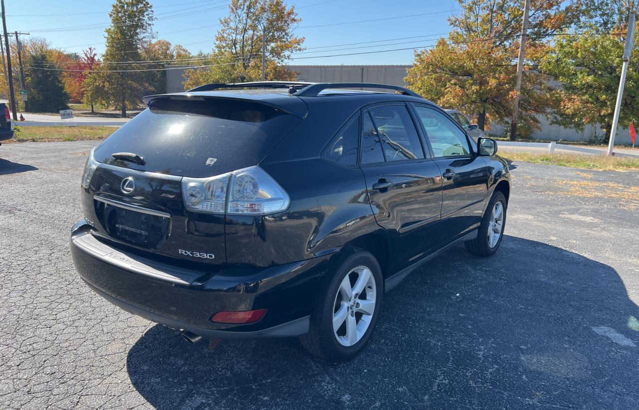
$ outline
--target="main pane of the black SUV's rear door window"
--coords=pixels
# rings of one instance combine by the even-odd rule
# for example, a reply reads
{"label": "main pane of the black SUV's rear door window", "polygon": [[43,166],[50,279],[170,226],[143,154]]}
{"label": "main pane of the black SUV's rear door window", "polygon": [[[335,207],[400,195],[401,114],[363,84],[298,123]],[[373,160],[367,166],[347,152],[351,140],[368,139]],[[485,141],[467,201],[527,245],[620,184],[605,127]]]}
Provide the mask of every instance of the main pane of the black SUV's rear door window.
{"label": "main pane of the black SUV's rear door window", "polygon": [[371,109],[387,162],[424,158],[413,120],[404,105]]}

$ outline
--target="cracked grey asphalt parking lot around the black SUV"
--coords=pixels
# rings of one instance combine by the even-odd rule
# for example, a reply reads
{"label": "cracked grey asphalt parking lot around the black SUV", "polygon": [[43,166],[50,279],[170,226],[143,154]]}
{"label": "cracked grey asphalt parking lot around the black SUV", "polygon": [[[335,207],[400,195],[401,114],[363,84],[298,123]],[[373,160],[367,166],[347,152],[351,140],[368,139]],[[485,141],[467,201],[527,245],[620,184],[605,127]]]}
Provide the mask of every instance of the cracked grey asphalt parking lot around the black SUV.
{"label": "cracked grey asphalt parking lot around the black SUV", "polygon": [[91,292],[68,236],[95,144],[0,147],[0,408],[639,408],[639,172],[513,163],[497,255],[412,273],[333,365],[189,345]]}

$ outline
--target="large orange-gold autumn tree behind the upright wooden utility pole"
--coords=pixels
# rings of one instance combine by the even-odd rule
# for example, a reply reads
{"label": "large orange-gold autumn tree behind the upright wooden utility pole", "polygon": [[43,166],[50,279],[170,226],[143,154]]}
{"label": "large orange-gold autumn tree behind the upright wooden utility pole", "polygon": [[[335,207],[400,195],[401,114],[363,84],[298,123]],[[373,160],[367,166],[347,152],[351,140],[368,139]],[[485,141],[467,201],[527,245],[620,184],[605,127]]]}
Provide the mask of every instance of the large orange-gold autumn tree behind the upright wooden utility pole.
{"label": "large orange-gold autumn tree behind the upright wooden utility pole", "polygon": [[[507,122],[514,99],[515,65],[523,1],[458,0],[462,12],[449,18],[452,31],[435,47],[415,52],[408,86],[445,107],[477,115],[482,130],[489,121]],[[548,38],[578,19],[576,3],[532,0],[527,66],[523,75],[520,120],[537,125],[546,112],[547,79],[530,70],[549,47]]]}

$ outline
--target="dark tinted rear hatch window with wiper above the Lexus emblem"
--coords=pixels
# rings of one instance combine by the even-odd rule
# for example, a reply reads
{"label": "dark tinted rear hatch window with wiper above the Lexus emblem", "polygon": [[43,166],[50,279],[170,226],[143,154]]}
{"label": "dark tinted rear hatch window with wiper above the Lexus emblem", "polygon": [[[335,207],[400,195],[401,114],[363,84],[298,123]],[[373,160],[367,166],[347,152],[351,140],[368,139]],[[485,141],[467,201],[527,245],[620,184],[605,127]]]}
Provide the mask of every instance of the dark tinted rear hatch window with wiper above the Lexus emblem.
{"label": "dark tinted rear hatch window with wiper above the Lexus emblem", "polygon": [[[263,103],[229,98],[164,98],[114,132],[95,159],[137,169],[201,178],[259,163],[301,121]],[[143,164],[113,158],[134,153]]]}

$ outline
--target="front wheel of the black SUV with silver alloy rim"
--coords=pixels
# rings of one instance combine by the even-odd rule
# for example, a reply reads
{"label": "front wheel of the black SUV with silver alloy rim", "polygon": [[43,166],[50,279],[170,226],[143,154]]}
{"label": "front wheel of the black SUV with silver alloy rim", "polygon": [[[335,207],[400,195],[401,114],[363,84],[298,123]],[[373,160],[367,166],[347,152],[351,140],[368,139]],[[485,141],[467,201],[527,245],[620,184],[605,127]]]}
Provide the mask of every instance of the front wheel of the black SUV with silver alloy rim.
{"label": "front wheel of the black SUV with silver alloy rim", "polygon": [[504,238],[506,209],[507,202],[504,194],[495,191],[482,216],[477,238],[465,242],[468,252],[479,256],[491,256],[497,252]]}

